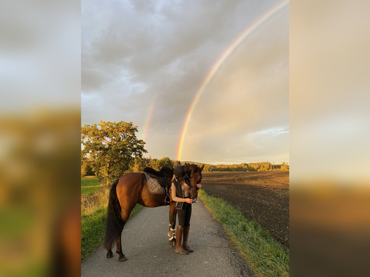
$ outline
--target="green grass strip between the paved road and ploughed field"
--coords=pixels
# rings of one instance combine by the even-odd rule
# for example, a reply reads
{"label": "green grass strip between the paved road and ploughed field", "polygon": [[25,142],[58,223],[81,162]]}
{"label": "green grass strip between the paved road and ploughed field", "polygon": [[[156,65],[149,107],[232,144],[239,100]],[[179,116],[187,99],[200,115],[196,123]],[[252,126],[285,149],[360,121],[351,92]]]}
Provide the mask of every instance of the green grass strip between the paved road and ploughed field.
{"label": "green grass strip between the paved road and ploughed field", "polygon": [[289,276],[289,250],[276,242],[255,220],[245,218],[220,198],[200,189],[199,198],[228,233],[256,276]]}

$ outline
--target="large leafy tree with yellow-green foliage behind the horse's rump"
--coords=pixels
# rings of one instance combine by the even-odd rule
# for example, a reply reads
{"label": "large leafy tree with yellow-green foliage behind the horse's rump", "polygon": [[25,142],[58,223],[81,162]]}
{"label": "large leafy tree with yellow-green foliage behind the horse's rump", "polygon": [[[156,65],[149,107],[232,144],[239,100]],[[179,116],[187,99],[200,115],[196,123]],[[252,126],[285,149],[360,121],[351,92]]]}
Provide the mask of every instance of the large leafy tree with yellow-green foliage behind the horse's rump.
{"label": "large leafy tree with yellow-green foliage behind the horse's rump", "polygon": [[120,177],[141,158],[145,142],[136,137],[132,122],[104,122],[81,127],[81,154],[88,160],[97,177],[107,183]]}

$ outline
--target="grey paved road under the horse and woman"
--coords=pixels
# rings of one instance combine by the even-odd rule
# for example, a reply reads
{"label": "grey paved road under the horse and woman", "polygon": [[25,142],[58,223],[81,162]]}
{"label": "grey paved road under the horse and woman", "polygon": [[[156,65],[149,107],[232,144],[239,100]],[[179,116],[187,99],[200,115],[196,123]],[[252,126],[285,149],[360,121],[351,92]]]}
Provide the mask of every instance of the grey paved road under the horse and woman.
{"label": "grey paved road under the horse and woman", "polygon": [[82,263],[81,276],[253,276],[201,200],[192,207],[188,243],[194,253],[175,253],[168,242],[168,224],[168,206],[142,209],[122,232],[122,249],[128,260],[119,262],[115,251],[114,257],[107,259],[100,246]]}

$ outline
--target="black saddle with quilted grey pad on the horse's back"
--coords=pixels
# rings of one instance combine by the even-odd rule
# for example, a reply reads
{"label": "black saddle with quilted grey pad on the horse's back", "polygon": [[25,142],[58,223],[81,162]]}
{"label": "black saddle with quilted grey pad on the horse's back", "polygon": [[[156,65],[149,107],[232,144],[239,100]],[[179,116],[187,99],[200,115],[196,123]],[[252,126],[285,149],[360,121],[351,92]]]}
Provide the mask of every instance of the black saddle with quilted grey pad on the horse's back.
{"label": "black saddle with quilted grey pad on the horse's back", "polygon": [[169,180],[173,176],[173,171],[168,167],[162,167],[156,171],[151,167],[144,168],[144,174],[147,177],[148,189],[152,194],[166,194],[165,202],[169,203]]}

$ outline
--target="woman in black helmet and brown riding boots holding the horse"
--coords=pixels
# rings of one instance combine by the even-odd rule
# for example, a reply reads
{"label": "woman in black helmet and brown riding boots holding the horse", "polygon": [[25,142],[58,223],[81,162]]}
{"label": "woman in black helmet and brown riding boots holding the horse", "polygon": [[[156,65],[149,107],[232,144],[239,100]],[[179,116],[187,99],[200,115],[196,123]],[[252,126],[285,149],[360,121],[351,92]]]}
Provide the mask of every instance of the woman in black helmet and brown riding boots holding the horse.
{"label": "woman in black helmet and brown riding boots holding the horse", "polygon": [[[196,185],[199,188],[201,184]],[[179,224],[176,230],[175,252],[180,254],[189,254],[193,250],[188,245],[188,235],[190,228],[191,204],[190,198],[190,179],[182,167],[174,168],[174,177],[171,182],[171,195],[175,201]],[[181,246],[181,237],[184,235],[184,241]]]}

